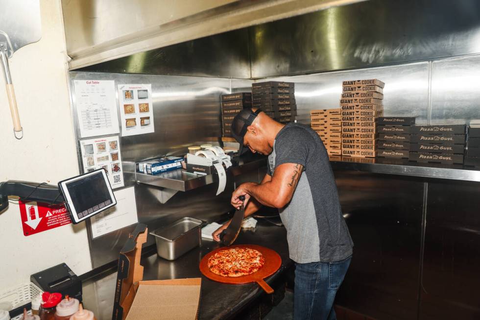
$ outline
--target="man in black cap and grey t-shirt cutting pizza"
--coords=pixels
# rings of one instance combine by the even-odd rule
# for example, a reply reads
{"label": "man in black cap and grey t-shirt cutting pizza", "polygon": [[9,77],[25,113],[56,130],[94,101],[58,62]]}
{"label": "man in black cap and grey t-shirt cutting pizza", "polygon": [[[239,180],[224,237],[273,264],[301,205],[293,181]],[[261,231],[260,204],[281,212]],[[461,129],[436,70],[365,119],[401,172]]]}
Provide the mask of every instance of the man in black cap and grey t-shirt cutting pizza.
{"label": "man in black cap and grey t-shirt cutting pizza", "polygon": [[[232,134],[240,154],[246,146],[268,155],[263,181],[241,184],[231,202],[239,208],[239,197],[245,196],[245,216],[262,205],[279,209],[296,266],[293,318],[336,319],[333,303],[350,265],[353,242],[322,141],[305,125],[278,123],[255,108],[235,117]],[[228,224],[213,233],[216,241]]]}

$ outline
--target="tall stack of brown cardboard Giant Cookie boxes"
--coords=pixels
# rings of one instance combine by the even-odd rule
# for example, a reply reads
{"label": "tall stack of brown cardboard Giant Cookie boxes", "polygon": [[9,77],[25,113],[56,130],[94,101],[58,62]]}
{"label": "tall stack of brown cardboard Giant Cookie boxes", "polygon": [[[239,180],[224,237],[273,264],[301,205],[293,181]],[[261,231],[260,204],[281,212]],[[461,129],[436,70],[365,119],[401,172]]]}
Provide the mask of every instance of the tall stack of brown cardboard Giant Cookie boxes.
{"label": "tall stack of brown cardboard Giant Cookie boxes", "polygon": [[384,82],[378,79],[343,81],[341,151],[352,157],[375,157],[377,118],[383,115]]}

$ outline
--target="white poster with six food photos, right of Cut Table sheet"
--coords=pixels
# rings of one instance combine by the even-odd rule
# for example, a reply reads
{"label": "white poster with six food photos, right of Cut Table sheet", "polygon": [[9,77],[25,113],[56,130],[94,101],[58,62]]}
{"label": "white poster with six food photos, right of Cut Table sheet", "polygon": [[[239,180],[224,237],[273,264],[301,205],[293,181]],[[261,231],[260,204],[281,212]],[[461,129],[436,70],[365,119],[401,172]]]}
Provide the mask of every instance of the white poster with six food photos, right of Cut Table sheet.
{"label": "white poster with six food photos, right of Cut Table sheet", "polygon": [[119,84],[121,135],[155,132],[151,84]]}

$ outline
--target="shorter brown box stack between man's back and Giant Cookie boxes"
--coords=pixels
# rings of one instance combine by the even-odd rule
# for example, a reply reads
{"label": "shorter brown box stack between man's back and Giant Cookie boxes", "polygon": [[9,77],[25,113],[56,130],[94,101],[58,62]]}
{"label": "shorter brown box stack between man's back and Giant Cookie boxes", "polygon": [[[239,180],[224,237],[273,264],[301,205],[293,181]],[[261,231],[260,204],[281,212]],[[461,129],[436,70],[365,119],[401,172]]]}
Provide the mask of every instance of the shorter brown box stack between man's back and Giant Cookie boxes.
{"label": "shorter brown box stack between man's back and Giant Cookie boxes", "polygon": [[341,110],[324,109],[310,111],[310,125],[320,136],[329,155],[341,155]]}

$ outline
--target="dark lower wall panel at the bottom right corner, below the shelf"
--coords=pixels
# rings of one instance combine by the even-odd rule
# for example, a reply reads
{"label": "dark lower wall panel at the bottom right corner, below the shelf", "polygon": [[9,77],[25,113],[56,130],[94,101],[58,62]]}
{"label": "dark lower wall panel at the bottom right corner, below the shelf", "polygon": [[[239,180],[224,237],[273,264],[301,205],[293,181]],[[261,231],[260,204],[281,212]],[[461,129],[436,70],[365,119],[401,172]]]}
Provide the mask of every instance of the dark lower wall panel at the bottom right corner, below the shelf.
{"label": "dark lower wall panel at the bottom right corner, below the shelf", "polygon": [[421,320],[480,319],[479,184],[429,182]]}

